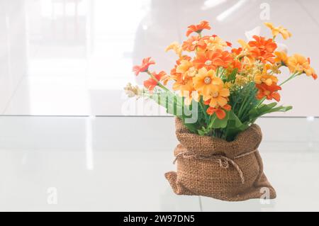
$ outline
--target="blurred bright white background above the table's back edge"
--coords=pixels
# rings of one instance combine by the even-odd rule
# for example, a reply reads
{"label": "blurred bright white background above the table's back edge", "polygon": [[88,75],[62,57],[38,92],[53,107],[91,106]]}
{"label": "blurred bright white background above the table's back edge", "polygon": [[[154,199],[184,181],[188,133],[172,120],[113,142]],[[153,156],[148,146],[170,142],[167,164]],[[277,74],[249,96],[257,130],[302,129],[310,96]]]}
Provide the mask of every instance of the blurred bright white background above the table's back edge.
{"label": "blurred bright white background above the table's back edge", "polygon": [[[176,59],[164,48],[181,43],[187,26],[202,20],[234,46],[252,33],[269,35],[266,21],[284,26],[293,36],[279,43],[310,57],[318,71],[318,6],[315,0],[0,0],[0,113],[162,114],[152,103],[127,100],[125,84],[146,79],[131,68],[152,56],[154,69],[169,72]],[[319,115],[318,85],[306,76],[285,84],[281,103],[293,111],[276,115]]]}

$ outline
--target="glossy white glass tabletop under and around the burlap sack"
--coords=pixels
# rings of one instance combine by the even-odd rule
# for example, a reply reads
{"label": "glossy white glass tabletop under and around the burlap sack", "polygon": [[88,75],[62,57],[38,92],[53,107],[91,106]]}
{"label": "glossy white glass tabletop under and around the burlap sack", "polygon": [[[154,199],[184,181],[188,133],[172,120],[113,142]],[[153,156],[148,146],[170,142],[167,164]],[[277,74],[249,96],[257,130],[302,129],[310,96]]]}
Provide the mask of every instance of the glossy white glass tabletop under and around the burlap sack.
{"label": "glossy white glass tabletop under and around the burlap sack", "polygon": [[172,117],[0,116],[0,210],[319,210],[318,118],[260,118],[270,203],[177,196]]}

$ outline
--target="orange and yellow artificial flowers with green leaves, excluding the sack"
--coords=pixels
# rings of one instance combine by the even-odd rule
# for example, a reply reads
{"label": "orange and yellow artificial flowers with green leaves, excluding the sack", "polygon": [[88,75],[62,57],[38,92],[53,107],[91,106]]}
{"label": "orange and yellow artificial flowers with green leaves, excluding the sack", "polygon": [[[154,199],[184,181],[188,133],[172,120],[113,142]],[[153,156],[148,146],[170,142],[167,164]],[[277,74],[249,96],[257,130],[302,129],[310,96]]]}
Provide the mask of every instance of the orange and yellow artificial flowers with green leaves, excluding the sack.
{"label": "orange and yellow artificial flowers with green leaves, excluding the sack", "polygon": [[[292,108],[277,106],[281,86],[287,81],[301,74],[317,79],[309,58],[287,56],[277,47],[276,38],[281,35],[286,40],[291,33],[272,23],[265,25],[272,38],[254,35],[249,42],[238,40],[237,48],[218,35],[203,35],[203,30],[211,30],[207,21],[191,25],[184,43],[172,43],[166,49],[178,57],[171,72],[151,72],[149,67],[155,62],[147,57],[133,67],[136,76],[145,72],[150,77],[144,81],[145,87],[128,84],[125,91],[130,97],[152,98],[180,118],[192,133],[234,140],[261,115]],[[290,74],[279,84],[284,67]],[[272,102],[264,103],[265,100]],[[186,108],[196,111],[196,120],[187,120],[191,116]]]}

